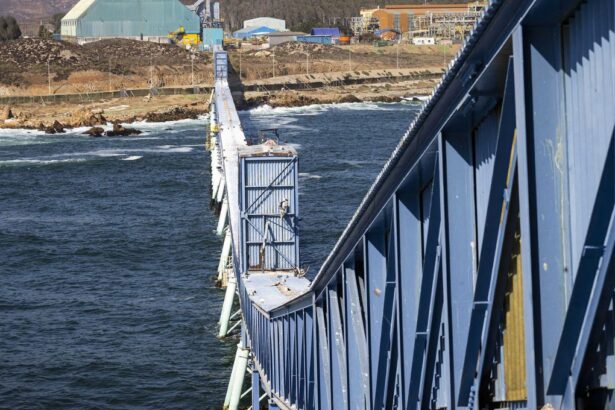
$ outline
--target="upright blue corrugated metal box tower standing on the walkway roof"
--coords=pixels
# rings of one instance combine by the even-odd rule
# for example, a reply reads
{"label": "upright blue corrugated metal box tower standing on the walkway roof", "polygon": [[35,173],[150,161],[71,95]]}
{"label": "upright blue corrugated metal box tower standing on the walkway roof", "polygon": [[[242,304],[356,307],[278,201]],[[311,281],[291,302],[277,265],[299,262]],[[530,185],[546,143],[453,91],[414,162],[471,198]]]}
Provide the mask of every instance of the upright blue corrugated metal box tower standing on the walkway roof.
{"label": "upright blue corrugated metal box tower standing on the walkway roof", "polygon": [[239,150],[243,272],[299,266],[298,157],[269,140]]}

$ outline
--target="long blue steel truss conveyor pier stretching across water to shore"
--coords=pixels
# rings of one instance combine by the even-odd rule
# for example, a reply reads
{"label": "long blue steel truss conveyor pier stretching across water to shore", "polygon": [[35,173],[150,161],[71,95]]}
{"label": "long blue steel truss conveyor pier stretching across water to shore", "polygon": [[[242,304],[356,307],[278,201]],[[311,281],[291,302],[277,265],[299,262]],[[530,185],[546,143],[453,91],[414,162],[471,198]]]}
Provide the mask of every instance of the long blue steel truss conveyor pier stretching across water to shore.
{"label": "long blue steel truss conveyor pier stretching across water to shore", "polygon": [[298,154],[249,144],[227,63],[225,408],[615,408],[614,0],[492,0],[312,281]]}

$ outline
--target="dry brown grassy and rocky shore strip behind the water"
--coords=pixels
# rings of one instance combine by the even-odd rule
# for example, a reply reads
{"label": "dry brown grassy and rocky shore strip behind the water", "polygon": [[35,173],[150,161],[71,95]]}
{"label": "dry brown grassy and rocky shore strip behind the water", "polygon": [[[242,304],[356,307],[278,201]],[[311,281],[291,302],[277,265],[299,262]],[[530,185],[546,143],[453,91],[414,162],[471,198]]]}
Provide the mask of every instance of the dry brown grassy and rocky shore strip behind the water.
{"label": "dry brown grassy and rocky shore strip behind the water", "polygon": [[[82,46],[53,40],[6,43],[10,44],[0,45],[0,57],[14,61],[9,68],[0,66],[4,74],[0,76],[4,79],[0,80],[0,128],[38,129],[52,134],[89,127],[92,136],[138,135],[137,129],[119,124],[196,119],[208,112],[213,85],[208,55],[199,57],[193,71],[189,53],[175,46],[104,40],[96,48],[90,45],[82,50]],[[101,66],[109,50],[113,50],[113,56],[107,55],[109,68],[104,72]],[[139,58],[148,53],[156,56],[151,57],[149,65]],[[268,50],[229,51],[229,83],[240,110],[264,105],[400,102],[428,95],[442,74],[447,55],[453,53],[450,46],[403,45],[397,49],[284,43]],[[93,54],[102,57],[96,59]],[[124,58],[124,54],[131,57]],[[154,63],[155,58],[158,61]],[[47,71],[45,59],[61,68],[54,69],[51,64]],[[185,87],[191,94],[108,98],[109,90],[128,87]],[[54,101],[34,97],[47,95],[45,91],[49,90],[57,96]],[[84,97],[69,101],[60,98],[62,93]],[[101,97],[96,97],[97,93]],[[20,100],[29,102],[10,103]],[[2,101],[9,104],[2,105]],[[115,124],[113,129],[109,124]]]}

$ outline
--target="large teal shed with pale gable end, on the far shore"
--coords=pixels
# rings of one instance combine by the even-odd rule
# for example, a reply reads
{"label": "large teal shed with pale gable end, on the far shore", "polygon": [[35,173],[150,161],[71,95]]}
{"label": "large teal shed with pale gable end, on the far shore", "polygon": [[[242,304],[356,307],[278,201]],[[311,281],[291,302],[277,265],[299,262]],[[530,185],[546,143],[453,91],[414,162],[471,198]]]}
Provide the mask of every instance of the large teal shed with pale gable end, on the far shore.
{"label": "large teal shed with pale gable end, on the far shore", "polygon": [[200,33],[200,19],[179,0],[80,0],[62,19],[62,38],[80,44],[105,38],[168,42],[184,27]]}

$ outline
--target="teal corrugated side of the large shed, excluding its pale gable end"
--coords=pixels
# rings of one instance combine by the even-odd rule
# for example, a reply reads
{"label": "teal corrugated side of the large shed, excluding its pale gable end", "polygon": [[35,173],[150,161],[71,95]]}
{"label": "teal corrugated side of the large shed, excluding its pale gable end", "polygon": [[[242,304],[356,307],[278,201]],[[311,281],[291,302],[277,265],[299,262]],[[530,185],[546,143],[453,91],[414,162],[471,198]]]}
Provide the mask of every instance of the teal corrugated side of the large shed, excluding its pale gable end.
{"label": "teal corrugated side of the large shed, excluding its pale gable end", "polygon": [[199,17],[178,0],[96,0],[77,21],[77,37],[166,37],[184,26],[200,33]]}

